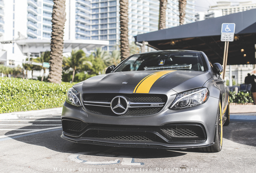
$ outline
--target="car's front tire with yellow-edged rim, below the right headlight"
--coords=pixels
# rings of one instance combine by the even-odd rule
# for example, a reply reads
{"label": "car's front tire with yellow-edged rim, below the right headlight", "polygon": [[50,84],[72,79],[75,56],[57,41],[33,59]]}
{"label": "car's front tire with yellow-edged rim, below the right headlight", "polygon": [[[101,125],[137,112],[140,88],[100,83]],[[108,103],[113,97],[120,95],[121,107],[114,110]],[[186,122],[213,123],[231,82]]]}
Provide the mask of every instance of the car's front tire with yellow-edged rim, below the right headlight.
{"label": "car's front tire with yellow-edged rim, below the right headlight", "polygon": [[221,151],[222,148],[222,116],[221,116],[221,102],[219,101],[217,119],[216,119],[216,128],[215,128],[215,140],[214,145],[209,147],[199,148],[200,151],[216,153]]}

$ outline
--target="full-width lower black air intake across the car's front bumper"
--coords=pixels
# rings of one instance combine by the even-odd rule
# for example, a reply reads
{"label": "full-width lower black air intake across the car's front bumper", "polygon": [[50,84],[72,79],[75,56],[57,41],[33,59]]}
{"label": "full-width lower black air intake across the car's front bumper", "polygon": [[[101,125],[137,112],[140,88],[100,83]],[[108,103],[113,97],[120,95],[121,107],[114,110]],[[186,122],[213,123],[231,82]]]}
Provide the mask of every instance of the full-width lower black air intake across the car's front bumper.
{"label": "full-width lower black air intake across the car's front bumper", "polygon": [[120,141],[153,141],[162,143],[202,142],[206,133],[200,124],[168,124],[157,126],[102,125],[79,120],[62,120],[66,135]]}

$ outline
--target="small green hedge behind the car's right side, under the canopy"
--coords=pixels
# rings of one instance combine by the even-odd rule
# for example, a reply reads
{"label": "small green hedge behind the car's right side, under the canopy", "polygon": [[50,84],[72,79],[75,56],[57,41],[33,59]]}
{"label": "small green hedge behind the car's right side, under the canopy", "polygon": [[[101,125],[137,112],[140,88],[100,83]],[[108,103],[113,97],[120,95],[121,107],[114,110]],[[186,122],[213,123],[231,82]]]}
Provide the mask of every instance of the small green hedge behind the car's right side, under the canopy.
{"label": "small green hedge behind the car's right side, under the canopy", "polygon": [[253,103],[252,93],[239,91],[237,95],[235,92],[229,92],[230,103]]}

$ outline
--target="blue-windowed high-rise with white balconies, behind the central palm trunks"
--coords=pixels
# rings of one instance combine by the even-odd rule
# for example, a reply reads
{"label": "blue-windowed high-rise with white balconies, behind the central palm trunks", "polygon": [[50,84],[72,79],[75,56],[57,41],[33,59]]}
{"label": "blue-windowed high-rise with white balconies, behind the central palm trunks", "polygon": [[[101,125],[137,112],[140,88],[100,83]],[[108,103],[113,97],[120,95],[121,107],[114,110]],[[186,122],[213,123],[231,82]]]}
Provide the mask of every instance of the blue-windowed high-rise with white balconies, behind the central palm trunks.
{"label": "blue-windowed high-rise with white balconies, behind the central palm trunks", "polygon": [[[92,0],[91,39],[109,40],[105,50],[114,50],[119,42],[119,0]],[[187,1],[186,23],[194,22],[193,0]],[[159,0],[129,0],[129,40],[133,36],[158,30]],[[179,25],[178,0],[168,0],[166,28]]]}

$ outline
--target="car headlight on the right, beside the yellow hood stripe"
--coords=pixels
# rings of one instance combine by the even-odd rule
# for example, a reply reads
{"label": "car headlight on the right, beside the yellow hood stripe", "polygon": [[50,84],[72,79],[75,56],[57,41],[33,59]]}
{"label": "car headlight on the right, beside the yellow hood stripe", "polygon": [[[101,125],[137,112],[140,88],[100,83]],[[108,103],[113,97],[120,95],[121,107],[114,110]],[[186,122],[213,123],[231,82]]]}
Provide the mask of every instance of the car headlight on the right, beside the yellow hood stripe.
{"label": "car headlight on the right, beside the yellow hood stripe", "polygon": [[182,109],[202,105],[209,98],[209,89],[199,88],[177,94],[169,109]]}

